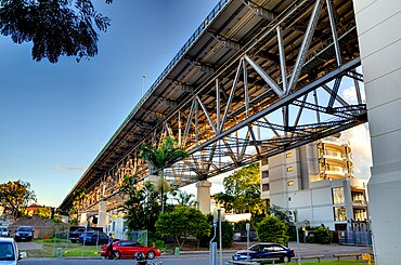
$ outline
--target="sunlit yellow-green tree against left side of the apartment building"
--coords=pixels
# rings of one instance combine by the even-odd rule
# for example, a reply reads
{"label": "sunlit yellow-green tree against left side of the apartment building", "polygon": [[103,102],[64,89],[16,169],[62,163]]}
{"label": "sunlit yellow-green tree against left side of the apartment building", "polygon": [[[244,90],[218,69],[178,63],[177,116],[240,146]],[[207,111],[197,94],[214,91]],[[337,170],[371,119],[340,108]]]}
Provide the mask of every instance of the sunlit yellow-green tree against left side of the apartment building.
{"label": "sunlit yellow-green tree against left side of the apartment building", "polygon": [[250,212],[261,214],[264,201],[260,199],[259,163],[251,163],[235,171],[223,181],[224,193],[214,195],[225,211],[236,213]]}

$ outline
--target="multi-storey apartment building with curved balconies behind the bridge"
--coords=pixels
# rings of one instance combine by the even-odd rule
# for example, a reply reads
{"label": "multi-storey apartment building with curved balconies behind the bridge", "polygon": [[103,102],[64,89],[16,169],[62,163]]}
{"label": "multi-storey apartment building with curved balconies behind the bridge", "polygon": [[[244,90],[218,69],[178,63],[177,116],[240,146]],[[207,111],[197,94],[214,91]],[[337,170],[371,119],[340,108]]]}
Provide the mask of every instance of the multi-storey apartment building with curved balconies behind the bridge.
{"label": "multi-storey apartment building with curved balconies behind the bridge", "polygon": [[367,218],[366,183],[353,174],[351,147],[339,134],[263,159],[261,198],[297,210],[298,221],[352,229]]}

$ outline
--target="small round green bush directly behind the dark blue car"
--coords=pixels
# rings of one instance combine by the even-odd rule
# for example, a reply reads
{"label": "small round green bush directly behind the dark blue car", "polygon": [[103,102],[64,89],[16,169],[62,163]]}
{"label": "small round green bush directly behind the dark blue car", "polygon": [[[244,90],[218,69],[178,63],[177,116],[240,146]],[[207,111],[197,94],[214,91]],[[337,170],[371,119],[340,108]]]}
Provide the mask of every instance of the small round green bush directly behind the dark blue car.
{"label": "small round green bush directly behind the dark blue car", "polygon": [[259,223],[256,233],[261,242],[277,242],[287,246],[287,225],[277,217],[267,216]]}

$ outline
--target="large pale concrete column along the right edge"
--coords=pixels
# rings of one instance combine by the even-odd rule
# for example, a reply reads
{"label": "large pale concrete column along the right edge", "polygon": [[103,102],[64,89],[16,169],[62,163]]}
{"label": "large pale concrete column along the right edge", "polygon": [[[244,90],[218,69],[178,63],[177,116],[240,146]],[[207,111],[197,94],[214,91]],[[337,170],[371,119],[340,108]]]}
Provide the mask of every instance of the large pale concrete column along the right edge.
{"label": "large pale concrete column along the right edge", "polygon": [[368,182],[376,264],[399,264],[401,1],[353,0],[373,151]]}

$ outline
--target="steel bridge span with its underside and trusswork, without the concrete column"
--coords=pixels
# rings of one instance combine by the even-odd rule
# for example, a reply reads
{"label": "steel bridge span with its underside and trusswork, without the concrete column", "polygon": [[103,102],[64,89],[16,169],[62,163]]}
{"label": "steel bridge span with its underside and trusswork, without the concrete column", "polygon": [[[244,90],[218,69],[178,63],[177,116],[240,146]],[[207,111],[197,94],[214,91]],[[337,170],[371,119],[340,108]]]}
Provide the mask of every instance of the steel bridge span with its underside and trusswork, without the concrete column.
{"label": "steel bridge span with its underside and trusswork, without the concrete column", "polygon": [[181,187],[366,122],[359,56],[352,1],[222,0],[76,184],[82,208],[148,174],[144,142],[186,148]]}

